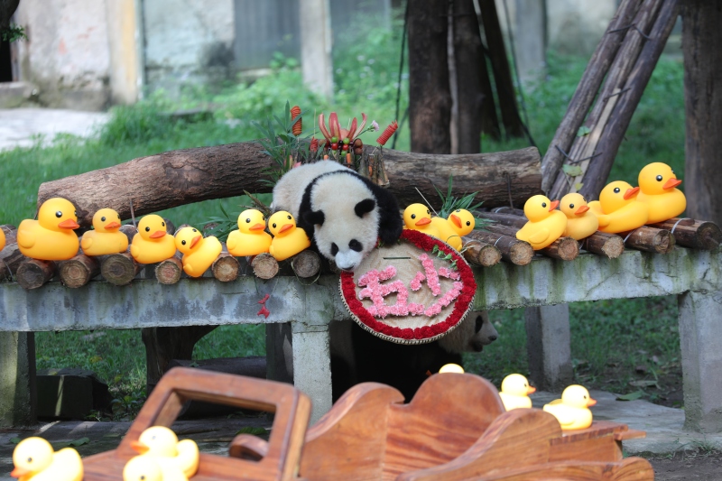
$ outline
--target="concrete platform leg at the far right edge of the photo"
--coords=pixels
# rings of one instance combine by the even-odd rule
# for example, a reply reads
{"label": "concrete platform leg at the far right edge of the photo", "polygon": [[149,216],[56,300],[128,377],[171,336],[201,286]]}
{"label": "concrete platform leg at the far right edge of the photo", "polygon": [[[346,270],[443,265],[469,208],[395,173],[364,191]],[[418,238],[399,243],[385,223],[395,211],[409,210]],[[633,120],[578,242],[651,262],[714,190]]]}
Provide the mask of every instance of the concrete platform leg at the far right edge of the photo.
{"label": "concrete platform leg at the far right edge of the photo", "polygon": [[722,291],[677,296],[685,428],[722,432]]}

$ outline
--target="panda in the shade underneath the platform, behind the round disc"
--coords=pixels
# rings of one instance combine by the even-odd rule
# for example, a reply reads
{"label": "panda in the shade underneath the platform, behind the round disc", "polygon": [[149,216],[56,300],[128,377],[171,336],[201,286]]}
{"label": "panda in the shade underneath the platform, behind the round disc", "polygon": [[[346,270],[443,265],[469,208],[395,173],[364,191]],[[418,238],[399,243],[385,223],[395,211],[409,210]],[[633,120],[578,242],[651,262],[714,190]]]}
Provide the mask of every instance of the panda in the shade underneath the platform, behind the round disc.
{"label": "panda in the shade underneath the platform, behind the round disc", "polygon": [[449,334],[425,344],[395,344],[350,319],[331,322],[329,334],[334,402],[353,385],[366,382],[391,385],[409,402],[428,373],[449,363],[463,365],[463,353],[481,352],[498,338],[486,310],[470,311]]}

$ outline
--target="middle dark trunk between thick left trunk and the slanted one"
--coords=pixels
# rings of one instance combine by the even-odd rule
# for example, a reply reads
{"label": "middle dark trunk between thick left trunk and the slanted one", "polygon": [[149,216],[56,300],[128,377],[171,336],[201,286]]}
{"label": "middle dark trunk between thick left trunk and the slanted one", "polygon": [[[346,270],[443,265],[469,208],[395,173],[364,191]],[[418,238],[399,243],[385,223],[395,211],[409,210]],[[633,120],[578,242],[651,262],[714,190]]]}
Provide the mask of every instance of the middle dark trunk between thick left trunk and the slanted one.
{"label": "middle dark trunk between thick left trunk and the slanted one", "polygon": [[481,152],[481,132],[499,136],[491,81],[481,48],[473,0],[454,1],[454,62],[457,72],[458,153]]}

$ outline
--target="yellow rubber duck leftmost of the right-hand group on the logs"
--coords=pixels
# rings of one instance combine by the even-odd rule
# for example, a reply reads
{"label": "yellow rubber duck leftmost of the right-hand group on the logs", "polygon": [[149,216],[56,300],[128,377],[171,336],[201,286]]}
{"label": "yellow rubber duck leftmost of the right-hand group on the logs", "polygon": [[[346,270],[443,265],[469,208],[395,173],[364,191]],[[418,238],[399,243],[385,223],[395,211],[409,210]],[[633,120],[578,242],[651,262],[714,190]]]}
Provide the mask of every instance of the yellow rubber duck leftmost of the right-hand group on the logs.
{"label": "yellow rubber duck leftmost of the right-hand group on the logs", "polygon": [[517,233],[516,238],[532,245],[534,250],[543,249],[560,238],[567,228],[567,216],[555,210],[559,200],[553,202],[545,196],[536,195],[524,203],[524,215],[529,219]]}

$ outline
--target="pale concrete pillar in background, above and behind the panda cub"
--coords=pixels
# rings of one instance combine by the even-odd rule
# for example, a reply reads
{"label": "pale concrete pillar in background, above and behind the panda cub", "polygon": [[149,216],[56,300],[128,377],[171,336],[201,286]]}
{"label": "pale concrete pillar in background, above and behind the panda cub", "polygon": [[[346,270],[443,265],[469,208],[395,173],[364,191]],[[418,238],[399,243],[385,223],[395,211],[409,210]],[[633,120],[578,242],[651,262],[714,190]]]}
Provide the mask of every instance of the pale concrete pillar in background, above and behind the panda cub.
{"label": "pale concrete pillar in background, above and behind the panda cub", "polygon": [[333,97],[333,61],[329,0],[300,0],[299,22],[303,82],[330,99]]}

